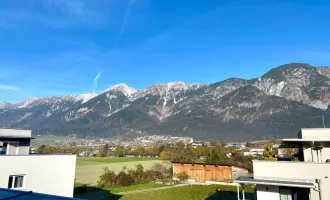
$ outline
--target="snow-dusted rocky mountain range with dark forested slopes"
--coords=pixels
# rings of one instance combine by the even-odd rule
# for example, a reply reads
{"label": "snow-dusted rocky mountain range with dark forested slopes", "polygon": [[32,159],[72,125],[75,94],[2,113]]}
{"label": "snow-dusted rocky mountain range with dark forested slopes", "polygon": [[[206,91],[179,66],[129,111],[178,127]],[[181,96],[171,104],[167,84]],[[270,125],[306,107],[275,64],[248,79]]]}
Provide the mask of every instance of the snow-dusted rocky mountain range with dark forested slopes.
{"label": "snow-dusted rocky mountain range with dark forested slopes", "polygon": [[329,103],[330,68],[290,63],[251,80],[171,82],[145,90],[122,83],[100,94],[0,102],[0,125],[80,137],[256,140],[330,125]]}

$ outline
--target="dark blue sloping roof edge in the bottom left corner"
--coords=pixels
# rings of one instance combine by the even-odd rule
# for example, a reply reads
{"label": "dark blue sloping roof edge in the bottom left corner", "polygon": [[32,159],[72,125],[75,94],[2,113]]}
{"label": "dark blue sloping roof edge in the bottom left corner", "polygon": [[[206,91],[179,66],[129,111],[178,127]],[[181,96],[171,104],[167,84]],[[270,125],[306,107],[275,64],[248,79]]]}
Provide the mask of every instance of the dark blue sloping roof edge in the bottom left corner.
{"label": "dark blue sloping roof edge in the bottom left corner", "polygon": [[48,194],[41,194],[36,192],[26,192],[20,190],[11,190],[11,189],[4,189],[0,188],[0,199],[7,200],[7,199],[15,199],[15,200],[55,200],[55,199],[77,199],[77,198],[70,198],[70,197],[62,197],[62,196],[55,196],[55,195],[48,195]]}

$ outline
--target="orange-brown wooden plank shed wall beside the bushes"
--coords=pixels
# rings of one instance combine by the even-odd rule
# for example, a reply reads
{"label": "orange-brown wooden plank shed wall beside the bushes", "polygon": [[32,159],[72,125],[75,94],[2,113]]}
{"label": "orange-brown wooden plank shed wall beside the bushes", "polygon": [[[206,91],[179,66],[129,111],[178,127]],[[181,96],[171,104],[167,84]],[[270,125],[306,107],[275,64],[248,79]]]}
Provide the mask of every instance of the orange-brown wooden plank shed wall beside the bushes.
{"label": "orange-brown wooden plank shed wall beside the bushes", "polygon": [[173,162],[173,174],[185,172],[191,181],[205,183],[206,181],[233,182],[237,177],[247,175],[248,170],[235,166],[205,163]]}

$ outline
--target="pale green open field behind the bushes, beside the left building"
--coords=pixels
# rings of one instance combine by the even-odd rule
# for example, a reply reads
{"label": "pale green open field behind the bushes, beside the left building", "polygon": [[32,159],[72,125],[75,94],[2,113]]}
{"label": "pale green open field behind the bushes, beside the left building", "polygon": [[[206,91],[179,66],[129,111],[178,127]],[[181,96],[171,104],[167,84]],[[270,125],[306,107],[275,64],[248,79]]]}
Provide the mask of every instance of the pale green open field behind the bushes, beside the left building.
{"label": "pale green open field behind the bushes, beside the left building", "polygon": [[145,169],[155,163],[169,163],[166,161],[150,158],[96,158],[77,157],[75,182],[80,184],[95,185],[99,176],[103,173],[104,167],[108,167],[115,173],[120,172],[124,166],[128,169],[142,164]]}

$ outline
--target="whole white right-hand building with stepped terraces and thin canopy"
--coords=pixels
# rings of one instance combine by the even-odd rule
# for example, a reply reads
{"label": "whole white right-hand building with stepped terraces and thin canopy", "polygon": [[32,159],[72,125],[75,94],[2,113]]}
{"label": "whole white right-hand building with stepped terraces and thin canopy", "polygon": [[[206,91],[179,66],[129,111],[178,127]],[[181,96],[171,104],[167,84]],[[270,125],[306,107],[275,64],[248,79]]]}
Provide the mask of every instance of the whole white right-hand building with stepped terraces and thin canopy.
{"label": "whole white right-hand building with stepped terraces and thin canopy", "polygon": [[330,129],[301,129],[297,139],[283,144],[299,149],[298,162],[254,160],[253,176],[235,182],[243,188],[255,184],[258,200],[330,199]]}

